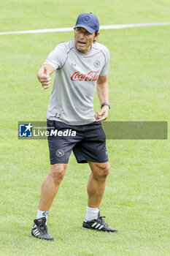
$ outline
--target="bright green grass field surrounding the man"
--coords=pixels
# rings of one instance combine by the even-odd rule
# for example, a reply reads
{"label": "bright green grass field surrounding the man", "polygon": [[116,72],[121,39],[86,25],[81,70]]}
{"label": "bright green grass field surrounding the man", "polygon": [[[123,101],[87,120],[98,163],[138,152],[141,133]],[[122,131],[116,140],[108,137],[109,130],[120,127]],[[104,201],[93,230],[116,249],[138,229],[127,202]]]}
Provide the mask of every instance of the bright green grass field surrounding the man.
{"label": "bright green grass field surrounding the man", "polygon": [[[80,12],[101,25],[169,22],[170,2],[1,1],[1,31],[74,26]],[[52,86],[36,72],[72,32],[0,35],[0,255],[169,255],[169,140],[108,140],[111,171],[101,215],[119,233],[82,230],[90,169],[71,156],[50,209],[53,243],[31,237],[42,181],[49,171],[47,140],[18,140],[18,121],[45,121]],[[169,121],[170,28],[101,31],[111,54],[109,121]],[[94,99],[95,109],[100,107]]]}

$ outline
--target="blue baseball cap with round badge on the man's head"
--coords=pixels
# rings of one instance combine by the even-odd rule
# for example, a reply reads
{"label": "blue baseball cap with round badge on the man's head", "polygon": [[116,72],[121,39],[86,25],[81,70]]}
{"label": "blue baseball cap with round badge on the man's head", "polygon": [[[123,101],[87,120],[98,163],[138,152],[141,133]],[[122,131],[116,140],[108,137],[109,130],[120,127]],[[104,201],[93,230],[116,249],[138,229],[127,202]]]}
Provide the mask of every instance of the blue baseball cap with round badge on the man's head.
{"label": "blue baseball cap with round badge on the man's head", "polygon": [[76,28],[86,29],[90,34],[99,30],[99,21],[96,15],[92,12],[82,12],[77,18]]}

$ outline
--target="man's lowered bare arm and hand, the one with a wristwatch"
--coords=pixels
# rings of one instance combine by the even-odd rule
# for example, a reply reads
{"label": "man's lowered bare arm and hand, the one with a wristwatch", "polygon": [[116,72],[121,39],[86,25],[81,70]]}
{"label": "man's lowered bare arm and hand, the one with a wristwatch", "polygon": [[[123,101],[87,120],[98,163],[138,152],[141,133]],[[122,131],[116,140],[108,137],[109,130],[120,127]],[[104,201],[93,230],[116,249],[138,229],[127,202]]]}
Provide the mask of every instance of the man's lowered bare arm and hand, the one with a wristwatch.
{"label": "man's lowered bare arm and hand, the one with a wristwatch", "polygon": [[[97,80],[97,93],[98,98],[102,103],[109,102],[109,85],[107,83],[107,75],[99,76]],[[96,121],[103,121],[107,119],[109,113],[109,106],[105,105],[101,108],[101,111],[97,111]]]}

